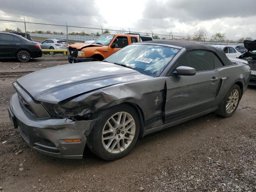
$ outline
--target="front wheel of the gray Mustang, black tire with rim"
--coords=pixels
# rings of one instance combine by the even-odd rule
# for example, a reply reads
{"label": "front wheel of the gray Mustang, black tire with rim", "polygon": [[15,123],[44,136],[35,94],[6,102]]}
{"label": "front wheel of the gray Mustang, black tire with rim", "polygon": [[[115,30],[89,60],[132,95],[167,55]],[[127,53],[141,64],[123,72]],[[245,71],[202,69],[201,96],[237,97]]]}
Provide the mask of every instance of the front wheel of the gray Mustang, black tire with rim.
{"label": "front wheel of the gray Mustang, black tire with rim", "polygon": [[[130,122],[125,126],[119,125],[118,127],[117,124],[114,124],[112,117],[118,122],[120,113],[122,113],[121,125],[123,122]],[[126,118],[124,120],[125,114]],[[99,120],[94,124],[87,140],[90,150],[104,160],[116,160],[126,156],[136,144],[140,132],[140,120],[134,108],[126,104],[120,104],[100,112],[96,118],[99,118]],[[113,131],[111,131],[109,124]],[[129,138],[129,140],[126,140],[126,138]]]}

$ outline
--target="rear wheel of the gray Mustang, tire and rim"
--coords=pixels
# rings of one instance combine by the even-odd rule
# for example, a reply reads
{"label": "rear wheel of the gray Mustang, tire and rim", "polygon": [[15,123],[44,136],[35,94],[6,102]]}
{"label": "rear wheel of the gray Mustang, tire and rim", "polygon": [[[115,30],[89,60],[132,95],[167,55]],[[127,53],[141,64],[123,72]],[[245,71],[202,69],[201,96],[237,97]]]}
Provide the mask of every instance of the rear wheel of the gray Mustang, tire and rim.
{"label": "rear wheel of the gray Mustang, tire and rim", "polygon": [[[233,96],[231,94],[233,94]],[[241,97],[242,95],[240,87],[237,84],[234,84],[228,90],[226,96],[220,103],[219,108],[215,111],[215,113],[223,117],[232,116],[239,105]]]}

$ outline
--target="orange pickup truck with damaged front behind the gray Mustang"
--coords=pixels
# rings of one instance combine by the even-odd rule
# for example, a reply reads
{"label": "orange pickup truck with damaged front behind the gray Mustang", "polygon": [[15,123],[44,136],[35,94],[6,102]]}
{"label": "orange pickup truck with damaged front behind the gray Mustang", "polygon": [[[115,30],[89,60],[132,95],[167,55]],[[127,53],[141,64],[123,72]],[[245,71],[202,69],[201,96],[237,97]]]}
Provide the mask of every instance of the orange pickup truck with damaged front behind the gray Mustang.
{"label": "orange pickup truck with damaged front behind the gray Mustang", "polygon": [[[152,40],[150,36],[144,38]],[[70,63],[101,61],[132,43],[143,40],[137,34],[102,34],[94,43],[75,43],[67,46]]]}

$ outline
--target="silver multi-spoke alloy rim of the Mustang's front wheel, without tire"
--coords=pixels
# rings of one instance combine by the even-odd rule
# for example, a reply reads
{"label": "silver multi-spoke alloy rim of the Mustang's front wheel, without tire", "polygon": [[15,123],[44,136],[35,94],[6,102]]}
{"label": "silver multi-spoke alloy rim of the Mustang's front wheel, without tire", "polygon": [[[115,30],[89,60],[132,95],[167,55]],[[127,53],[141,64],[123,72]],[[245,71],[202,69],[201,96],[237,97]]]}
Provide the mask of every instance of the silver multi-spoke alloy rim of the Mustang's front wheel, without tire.
{"label": "silver multi-spoke alloy rim of the Mustang's front wheel, without tire", "polygon": [[135,126],[134,118],[127,112],[112,115],[102,130],[102,144],[105,150],[111,154],[126,150],[134,139]]}

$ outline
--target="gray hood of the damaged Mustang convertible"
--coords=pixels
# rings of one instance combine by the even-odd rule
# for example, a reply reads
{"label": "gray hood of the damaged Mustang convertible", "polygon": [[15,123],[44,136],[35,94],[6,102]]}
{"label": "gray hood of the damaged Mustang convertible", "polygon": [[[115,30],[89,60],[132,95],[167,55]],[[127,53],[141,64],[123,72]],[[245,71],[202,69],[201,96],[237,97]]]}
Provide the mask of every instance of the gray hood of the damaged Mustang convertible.
{"label": "gray hood of the damaged Mustang convertible", "polygon": [[36,101],[58,102],[123,82],[152,78],[107,62],[82,62],[46,68],[17,79]]}

